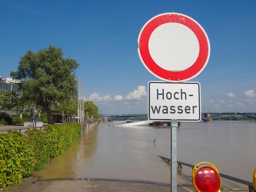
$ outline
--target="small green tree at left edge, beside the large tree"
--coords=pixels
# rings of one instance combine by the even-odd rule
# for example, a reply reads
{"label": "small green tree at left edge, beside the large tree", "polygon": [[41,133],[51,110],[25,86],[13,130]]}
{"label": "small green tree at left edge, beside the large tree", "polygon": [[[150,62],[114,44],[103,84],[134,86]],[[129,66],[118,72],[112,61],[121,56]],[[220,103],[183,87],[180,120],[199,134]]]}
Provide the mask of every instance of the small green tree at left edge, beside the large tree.
{"label": "small green tree at left edge, beside the large tree", "polygon": [[0,92],[0,109],[16,109],[18,107],[18,94],[13,91]]}

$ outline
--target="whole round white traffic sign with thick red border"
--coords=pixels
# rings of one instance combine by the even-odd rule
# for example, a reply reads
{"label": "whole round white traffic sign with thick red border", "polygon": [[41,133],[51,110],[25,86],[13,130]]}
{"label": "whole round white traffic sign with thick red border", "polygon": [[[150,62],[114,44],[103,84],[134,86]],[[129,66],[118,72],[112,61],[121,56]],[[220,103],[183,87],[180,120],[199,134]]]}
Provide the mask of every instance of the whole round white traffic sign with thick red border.
{"label": "whole round white traffic sign with thick red border", "polygon": [[142,27],[138,53],[146,69],[167,82],[184,82],[200,74],[210,56],[202,26],[184,14],[162,13]]}

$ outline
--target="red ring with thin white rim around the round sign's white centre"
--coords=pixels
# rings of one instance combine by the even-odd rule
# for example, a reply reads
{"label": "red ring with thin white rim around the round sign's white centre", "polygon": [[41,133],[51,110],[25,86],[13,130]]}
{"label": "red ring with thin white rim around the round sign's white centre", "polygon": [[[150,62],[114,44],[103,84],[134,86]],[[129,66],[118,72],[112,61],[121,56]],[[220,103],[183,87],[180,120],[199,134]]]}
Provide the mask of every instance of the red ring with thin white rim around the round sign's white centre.
{"label": "red ring with thin white rim around the round sign's white centre", "polygon": [[[150,55],[148,42],[153,31],[160,25],[175,22],[188,27],[196,36],[199,43],[199,54],[195,62],[184,70],[166,70],[153,60]],[[168,82],[183,82],[194,78],[207,65],[210,56],[210,43],[204,29],[192,18],[180,13],[163,13],[150,19],[141,29],[138,38],[138,53],[141,62],[151,74]]]}

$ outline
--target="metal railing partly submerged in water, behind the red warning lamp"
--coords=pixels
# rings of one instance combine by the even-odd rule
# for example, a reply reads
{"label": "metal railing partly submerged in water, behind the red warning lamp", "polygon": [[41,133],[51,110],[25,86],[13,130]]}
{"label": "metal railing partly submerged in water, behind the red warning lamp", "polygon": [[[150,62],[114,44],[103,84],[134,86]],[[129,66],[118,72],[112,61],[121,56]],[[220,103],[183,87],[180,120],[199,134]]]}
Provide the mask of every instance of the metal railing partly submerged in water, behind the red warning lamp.
{"label": "metal railing partly submerged in water, behind the red warning lamp", "polygon": [[[169,159],[167,157],[163,157],[163,156],[159,156],[159,157],[161,157],[162,159],[165,159],[166,161],[171,162],[171,159]],[[179,168],[182,168],[182,165],[192,167],[192,169],[193,169],[193,167],[195,167],[195,165],[192,165],[192,164],[189,164],[189,163],[184,163],[182,161],[177,161],[177,163],[178,163]],[[241,178],[231,176],[231,175],[228,175],[228,174],[224,174],[224,173],[220,173],[220,172],[219,172],[219,174],[220,174],[221,177],[223,177],[225,179],[229,179],[231,181],[235,181],[235,182],[238,182],[238,183],[241,183],[241,184],[244,184],[244,185],[248,185],[249,192],[256,192],[256,190],[254,189],[254,185],[253,185],[252,181],[248,181],[248,180],[245,180],[245,179],[241,179]]]}

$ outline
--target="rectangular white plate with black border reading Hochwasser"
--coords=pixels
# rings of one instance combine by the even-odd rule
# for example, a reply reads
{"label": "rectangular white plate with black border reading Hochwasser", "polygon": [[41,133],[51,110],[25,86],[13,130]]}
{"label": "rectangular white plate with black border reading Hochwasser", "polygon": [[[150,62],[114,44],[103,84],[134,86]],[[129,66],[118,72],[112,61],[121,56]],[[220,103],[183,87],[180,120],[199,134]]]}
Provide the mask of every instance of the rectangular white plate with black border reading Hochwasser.
{"label": "rectangular white plate with black border reading Hochwasser", "polygon": [[201,121],[200,83],[148,82],[148,120]]}

